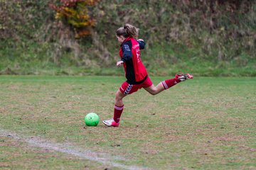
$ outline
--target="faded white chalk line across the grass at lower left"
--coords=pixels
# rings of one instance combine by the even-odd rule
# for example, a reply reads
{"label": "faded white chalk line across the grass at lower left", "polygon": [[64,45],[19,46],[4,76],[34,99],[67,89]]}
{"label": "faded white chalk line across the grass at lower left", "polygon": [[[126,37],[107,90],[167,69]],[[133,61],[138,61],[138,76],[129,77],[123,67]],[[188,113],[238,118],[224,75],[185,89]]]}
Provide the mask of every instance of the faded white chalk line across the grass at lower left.
{"label": "faded white chalk line across the grass at lower left", "polygon": [[91,152],[90,150],[81,149],[79,147],[75,147],[73,145],[69,145],[65,143],[49,142],[39,137],[25,137],[23,135],[17,135],[16,133],[11,132],[9,130],[0,129],[0,137],[11,137],[14,140],[20,140],[21,142],[26,142],[33,147],[42,147],[43,149],[48,149],[50,151],[57,151],[65,154],[71,154],[76,157],[80,157],[90,161],[100,162],[106,166],[114,166],[114,167],[119,167],[121,169],[129,169],[129,170],[148,169],[145,167],[127,166],[124,164],[113,162],[112,159],[114,158],[104,153]]}

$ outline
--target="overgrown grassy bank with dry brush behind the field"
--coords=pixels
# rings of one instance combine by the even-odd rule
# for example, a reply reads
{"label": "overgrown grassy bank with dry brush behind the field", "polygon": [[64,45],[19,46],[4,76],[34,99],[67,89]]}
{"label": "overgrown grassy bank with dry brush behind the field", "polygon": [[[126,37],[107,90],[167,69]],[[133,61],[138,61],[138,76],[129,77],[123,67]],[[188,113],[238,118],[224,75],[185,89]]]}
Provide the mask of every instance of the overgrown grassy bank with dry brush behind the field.
{"label": "overgrown grassy bank with dry brush behind the field", "polygon": [[[58,18],[53,6],[67,2],[91,24]],[[114,33],[131,23],[147,43],[142,60],[151,75],[256,75],[255,0],[86,2],[1,0],[0,74],[123,74],[113,69]]]}

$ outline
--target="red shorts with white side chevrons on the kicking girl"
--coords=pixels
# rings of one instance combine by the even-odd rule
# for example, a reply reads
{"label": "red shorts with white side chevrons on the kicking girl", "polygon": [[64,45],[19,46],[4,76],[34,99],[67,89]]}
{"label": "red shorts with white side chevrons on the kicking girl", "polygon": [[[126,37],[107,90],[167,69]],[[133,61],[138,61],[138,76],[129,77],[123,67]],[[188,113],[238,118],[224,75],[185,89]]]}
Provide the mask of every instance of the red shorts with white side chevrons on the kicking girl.
{"label": "red shorts with white side chevrons on the kicking girl", "polygon": [[119,91],[121,91],[122,94],[128,95],[142,89],[142,87],[149,87],[152,84],[153,83],[149,76],[146,77],[145,81],[143,81],[141,84],[128,84],[127,81],[124,81],[124,83],[120,86]]}

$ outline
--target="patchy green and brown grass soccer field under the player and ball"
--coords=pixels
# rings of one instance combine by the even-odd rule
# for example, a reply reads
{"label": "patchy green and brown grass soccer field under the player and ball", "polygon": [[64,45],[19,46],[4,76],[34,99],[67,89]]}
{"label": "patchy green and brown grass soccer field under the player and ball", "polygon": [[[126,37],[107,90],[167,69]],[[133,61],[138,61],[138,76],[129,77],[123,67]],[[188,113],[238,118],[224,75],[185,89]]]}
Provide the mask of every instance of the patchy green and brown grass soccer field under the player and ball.
{"label": "patchy green and brown grass soccer field under the player and ball", "polygon": [[0,169],[256,169],[255,77],[142,89],[119,128],[85,127],[87,113],[112,117],[122,81],[1,76]]}

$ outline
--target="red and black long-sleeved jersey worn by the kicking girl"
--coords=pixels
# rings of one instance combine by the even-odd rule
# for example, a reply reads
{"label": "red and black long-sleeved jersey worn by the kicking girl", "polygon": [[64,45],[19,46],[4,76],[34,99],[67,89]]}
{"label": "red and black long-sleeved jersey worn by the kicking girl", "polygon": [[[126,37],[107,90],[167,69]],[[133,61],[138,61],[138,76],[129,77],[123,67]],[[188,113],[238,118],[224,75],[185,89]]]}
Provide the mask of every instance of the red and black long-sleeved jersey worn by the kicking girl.
{"label": "red and black long-sleeved jersey worn by the kicking girl", "polygon": [[124,62],[125,77],[129,84],[141,84],[147,77],[146,68],[140,58],[140,49],[144,49],[145,42],[128,37],[122,42],[119,55]]}

